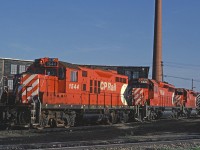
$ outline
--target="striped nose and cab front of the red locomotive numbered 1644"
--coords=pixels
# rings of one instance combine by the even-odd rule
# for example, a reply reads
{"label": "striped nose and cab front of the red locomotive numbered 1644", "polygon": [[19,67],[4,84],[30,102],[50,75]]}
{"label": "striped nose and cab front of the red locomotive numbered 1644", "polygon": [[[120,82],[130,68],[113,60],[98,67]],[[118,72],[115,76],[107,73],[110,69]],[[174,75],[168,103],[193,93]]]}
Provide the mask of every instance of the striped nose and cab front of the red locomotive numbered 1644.
{"label": "striped nose and cab front of the red locomotive numbered 1644", "polygon": [[[36,59],[26,72],[14,78],[14,93],[16,103],[31,103],[39,98],[45,91],[57,92],[58,59]],[[52,86],[51,84],[54,83]]]}

